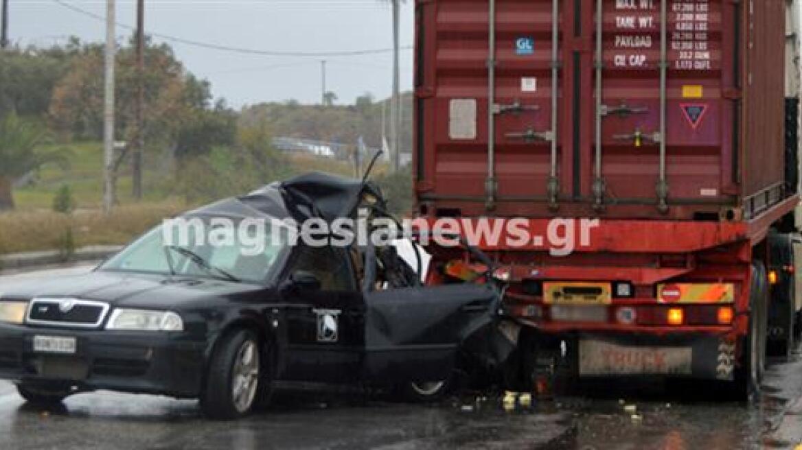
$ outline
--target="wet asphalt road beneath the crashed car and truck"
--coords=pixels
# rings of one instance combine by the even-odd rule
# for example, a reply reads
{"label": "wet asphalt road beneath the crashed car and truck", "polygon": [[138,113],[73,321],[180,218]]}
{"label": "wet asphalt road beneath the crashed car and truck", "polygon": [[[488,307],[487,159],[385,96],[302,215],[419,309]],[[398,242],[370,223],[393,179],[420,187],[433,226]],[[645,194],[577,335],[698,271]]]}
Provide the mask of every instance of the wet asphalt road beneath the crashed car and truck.
{"label": "wet asphalt road beneath the crashed car and truck", "polygon": [[[83,267],[0,276],[52,276]],[[358,392],[283,391],[246,420],[205,420],[197,404],[93,392],[62,408],[24,403],[0,381],[0,449],[241,448],[796,448],[802,442],[802,355],[772,364],[751,404],[719,399],[715,385],[643,380],[582,384],[530,411],[504,412],[497,396],[435,406]],[[477,396],[488,400],[477,403]],[[635,416],[626,407],[636,408]]]}

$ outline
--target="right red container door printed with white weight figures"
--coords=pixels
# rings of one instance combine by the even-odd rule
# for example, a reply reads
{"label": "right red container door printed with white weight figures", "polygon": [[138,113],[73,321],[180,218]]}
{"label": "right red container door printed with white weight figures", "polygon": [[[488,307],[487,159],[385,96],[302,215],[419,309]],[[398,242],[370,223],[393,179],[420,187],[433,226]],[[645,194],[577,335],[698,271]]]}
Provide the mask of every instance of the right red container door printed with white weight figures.
{"label": "right red container door printed with white weight figures", "polygon": [[[592,129],[585,129],[593,145],[581,162],[584,194],[599,211],[611,204],[668,212],[667,203],[725,203],[734,193],[737,2],[582,3],[596,8],[585,14],[593,18],[593,53],[602,56],[590,87],[596,107]],[[728,51],[723,42],[730,42]]]}

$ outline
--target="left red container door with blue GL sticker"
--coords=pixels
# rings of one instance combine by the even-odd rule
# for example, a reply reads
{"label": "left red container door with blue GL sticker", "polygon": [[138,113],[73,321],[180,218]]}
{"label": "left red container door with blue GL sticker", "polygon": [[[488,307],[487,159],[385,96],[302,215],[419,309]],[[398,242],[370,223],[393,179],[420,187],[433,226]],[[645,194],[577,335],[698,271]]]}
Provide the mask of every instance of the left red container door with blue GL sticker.
{"label": "left red container door with blue GL sticker", "polygon": [[553,83],[560,72],[560,44],[553,45],[560,3],[419,2],[422,199],[464,201],[464,213],[548,199],[561,152],[553,102],[560,91]]}

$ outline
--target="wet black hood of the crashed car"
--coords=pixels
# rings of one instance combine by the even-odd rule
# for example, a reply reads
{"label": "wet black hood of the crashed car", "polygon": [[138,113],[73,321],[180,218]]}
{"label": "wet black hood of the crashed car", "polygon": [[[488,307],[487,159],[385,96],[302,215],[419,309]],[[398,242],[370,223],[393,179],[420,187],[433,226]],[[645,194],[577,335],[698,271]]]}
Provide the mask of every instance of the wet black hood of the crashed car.
{"label": "wet black hood of the crashed car", "polygon": [[169,277],[128,272],[93,271],[86,275],[34,279],[0,285],[2,299],[69,297],[113,306],[180,307],[199,299],[232,297],[264,287],[218,279]]}

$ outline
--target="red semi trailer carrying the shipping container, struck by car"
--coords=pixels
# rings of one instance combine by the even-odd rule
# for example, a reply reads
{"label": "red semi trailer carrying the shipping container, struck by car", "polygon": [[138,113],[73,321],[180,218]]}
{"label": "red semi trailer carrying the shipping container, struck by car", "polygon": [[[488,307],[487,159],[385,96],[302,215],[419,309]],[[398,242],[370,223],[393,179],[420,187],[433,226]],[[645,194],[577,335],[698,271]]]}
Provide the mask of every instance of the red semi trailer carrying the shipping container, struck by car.
{"label": "red semi trailer carrying the shipping container, struck by car", "polygon": [[[748,396],[767,349],[789,352],[798,8],[415,2],[415,215],[525,220],[525,245],[476,242],[508,279],[519,373],[720,380]],[[543,237],[572,220],[586,239],[551,251]],[[435,266],[463,258],[429,250]]]}

